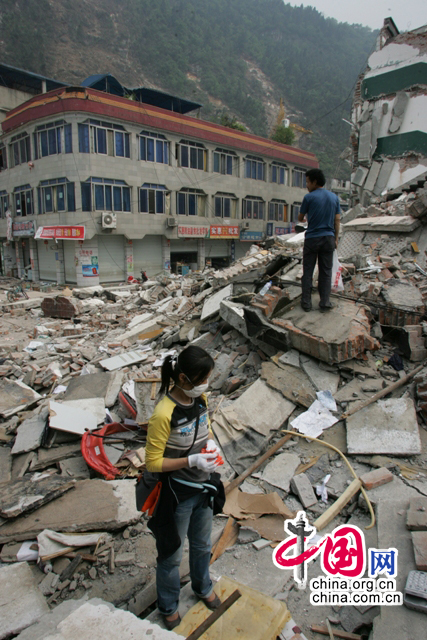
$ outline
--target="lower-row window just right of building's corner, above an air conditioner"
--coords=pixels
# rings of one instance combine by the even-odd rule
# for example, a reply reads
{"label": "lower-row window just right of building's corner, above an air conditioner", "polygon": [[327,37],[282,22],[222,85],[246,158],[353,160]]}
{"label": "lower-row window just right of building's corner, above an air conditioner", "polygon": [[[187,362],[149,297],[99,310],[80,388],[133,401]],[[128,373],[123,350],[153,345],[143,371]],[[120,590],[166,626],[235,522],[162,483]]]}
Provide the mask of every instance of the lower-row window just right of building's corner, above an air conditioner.
{"label": "lower-row window just right of building's corner, above an air conditioner", "polygon": [[81,183],[82,211],[130,211],[130,187],[124,180],[89,178]]}

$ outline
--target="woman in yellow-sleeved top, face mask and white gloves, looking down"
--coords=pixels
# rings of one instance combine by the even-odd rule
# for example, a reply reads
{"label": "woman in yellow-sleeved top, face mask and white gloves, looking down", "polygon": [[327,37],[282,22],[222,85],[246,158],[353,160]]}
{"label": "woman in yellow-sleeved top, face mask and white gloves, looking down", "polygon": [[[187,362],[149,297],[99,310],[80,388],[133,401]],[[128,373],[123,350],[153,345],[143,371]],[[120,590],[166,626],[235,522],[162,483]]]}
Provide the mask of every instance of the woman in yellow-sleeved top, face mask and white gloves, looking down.
{"label": "woman in yellow-sleeved top, face mask and white gloves, looking down", "polygon": [[[194,593],[209,609],[221,604],[209,575],[213,496],[222,488],[218,474],[211,475],[220,450],[212,439],[205,396],[213,368],[211,356],[197,346],[190,345],[178,357],[167,356],[162,366],[163,398],[148,422],[145,463],[148,471],[160,473],[162,481],[148,526],[158,553],[157,606],[168,629],[181,621],[179,566],[186,535]],[[210,453],[201,453],[204,448]]]}

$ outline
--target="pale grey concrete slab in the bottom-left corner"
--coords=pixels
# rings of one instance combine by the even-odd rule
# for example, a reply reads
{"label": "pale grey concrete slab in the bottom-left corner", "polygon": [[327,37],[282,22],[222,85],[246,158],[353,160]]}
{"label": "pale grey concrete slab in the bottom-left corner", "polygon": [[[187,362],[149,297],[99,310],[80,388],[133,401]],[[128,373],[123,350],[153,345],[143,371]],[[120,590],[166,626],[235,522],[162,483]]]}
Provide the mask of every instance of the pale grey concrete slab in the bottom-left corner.
{"label": "pale grey concrete slab in the bottom-left corner", "polygon": [[0,568],[0,638],[19,633],[48,611],[26,562]]}

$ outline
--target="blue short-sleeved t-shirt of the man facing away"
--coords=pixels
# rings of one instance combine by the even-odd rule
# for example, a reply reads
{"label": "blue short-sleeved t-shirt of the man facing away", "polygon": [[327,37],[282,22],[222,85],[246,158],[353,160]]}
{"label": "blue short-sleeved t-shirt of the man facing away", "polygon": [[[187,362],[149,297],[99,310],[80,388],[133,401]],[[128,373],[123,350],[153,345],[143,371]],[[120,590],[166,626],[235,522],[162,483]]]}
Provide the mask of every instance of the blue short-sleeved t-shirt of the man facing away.
{"label": "blue short-sleeved t-shirt of the man facing away", "polygon": [[335,216],[341,213],[338,196],[326,189],[315,189],[304,196],[300,213],[307,216],[306,238],[335,235]]}

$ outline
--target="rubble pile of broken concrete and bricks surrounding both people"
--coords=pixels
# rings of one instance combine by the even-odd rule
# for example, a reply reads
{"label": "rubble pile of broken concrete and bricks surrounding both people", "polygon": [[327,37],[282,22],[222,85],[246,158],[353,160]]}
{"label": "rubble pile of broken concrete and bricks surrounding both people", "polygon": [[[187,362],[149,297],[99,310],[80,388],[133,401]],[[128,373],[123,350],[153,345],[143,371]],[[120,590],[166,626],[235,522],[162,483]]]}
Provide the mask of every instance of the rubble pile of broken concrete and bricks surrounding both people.
{"label": "rubble pile of broken concrete and bricks surrounding both people", "polygon": [[[419,197],[393,205],[404,204],[401,218]],[[286,602],[300,637],[313,638],[324,610],[310,608],[309,593],[292,588],[292,572],[275,572],[271,561],[283,519],[305,510],[320,535],[347,522],[363,529],[371,503],[377,525],[365,531],[366,546],[381,549],[395,502],[406,541],[398,588],[405,566],[425,571],[427,526],[405,524],[413,501],[427,496],[427,368],[419,364],[427,355],[427,276],[421,250],[414,254],[415,242],[424,247],[423,227],[417,218],[416,241],[387,227],[365,230],[357,226],[370,219],[365,213],[359,207],[343,225],[344,291],[329,314],[300,309],[298,235],[254,245],[220,271],[2,303],[2,328],[9,328],[0,336],[0,575],[16,567],[34,615],[19,628],[11,616],[0,638],[25,627],[23,640],[39,637],[37,624],[56,629],[68,617],[72,626],[70,601],[88,607],[89,618],[97,607],[141,615],[153,604],[155,543],[135,507],[134,478],[144,469],[160,367],[189,343],[215,360],[209,409],[225,458],[221,474],[225,482],[239,478],[227,494],[233,528],[215,576]],[[26,340],[22,330],[14,337],[21,318],[31,327]],[[337,450],[349,455],[355,477]],[[223,524],[217,516],[217,537]],[[38,568],[28,574],[27,563]],[[310,577],[312,570],[321,574],[319,560]],[[373,627],[382,640],[391,609],[348,606],[330,617],[346,632]],[[62,617],[49,622],[56,611]]]}

